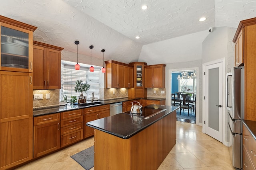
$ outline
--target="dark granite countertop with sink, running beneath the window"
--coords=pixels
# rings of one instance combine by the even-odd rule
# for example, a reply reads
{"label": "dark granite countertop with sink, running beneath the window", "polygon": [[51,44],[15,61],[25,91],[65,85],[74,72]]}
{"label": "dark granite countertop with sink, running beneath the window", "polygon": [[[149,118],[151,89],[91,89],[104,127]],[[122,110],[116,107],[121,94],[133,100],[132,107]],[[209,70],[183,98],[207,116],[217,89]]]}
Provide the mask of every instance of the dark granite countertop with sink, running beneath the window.
{"label": "dark granite countertop with sink, running beneath the window", "polygon": [[[126,102],[130,100],[136,100],[140,98],[122,98],[122,99],[116,99],[116,100],[99,100],[99,101],[94,101],[94,102],[102,102],[102,104],[95,104],[95,105],[90,105],[90,106],[80,106],[80,105],[70,105],[66,104],[65,106],[57,106],[57,107],[48,107],[48,108],[43,108],[43,109],[34,109],[33,110],[33,117],[36,116],[42,116],[42,115],[48,115],[52,113],[60,113],[63,111],[70,111],[70,110],[75,110],[75,109],[82,109],[86,107],[94,107],[94,106],[100,106],[100,105],[105,105],[105,104],[114,104],[114,103],[119,103],[119,102]],[[146,98],[148,100],[165,100],[162,98]],[[94,103],[93,102],[93,103]],[[90,102],[87,102],[90,103]]]}

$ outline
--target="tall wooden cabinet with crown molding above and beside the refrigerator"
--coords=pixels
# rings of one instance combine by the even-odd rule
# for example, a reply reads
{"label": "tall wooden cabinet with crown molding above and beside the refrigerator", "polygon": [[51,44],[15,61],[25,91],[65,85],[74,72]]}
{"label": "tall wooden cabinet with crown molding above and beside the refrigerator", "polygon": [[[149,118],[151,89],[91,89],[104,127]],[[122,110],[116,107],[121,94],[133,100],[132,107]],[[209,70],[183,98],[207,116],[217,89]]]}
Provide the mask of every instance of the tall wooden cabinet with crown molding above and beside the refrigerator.
{"label": "tall wooden cabinet with crown molding above and beside the refrigerator", "polygon": [[[244,32],[244,35],[240,35]],[[242,38],[241,38],[242,36]],[[256,18],[240,21],[233,42],[242,39],[242,55],[244,55],[244,119],[256,121],[254,95],[256,89]],[[239,46],[239,45],[238,45]],[[236,52],[237,53],[237,52]],[[240,52],[238,52],[240,53]],[[239,57],[238,57],[239,58]],[[236,61],[236,60],[235,60]],[[239,62],[238,62],[239,63]]]}

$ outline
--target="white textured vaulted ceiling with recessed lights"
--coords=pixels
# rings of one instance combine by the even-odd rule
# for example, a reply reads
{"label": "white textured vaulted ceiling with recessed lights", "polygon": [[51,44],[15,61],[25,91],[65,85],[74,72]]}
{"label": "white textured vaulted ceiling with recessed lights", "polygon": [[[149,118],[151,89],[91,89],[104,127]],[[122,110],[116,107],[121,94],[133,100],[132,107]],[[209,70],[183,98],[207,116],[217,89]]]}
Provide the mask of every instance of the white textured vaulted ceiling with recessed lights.
{"label": "white textured vaulted ceiling with recessed lights", "polygon": [[[240,20],[256,17],[255,9],[255,0],[8,0],[1,2],[0,15],[38,27],[34,40],[65,51],[76,53],[74,41],[80,41],[78,53],[90,64],[90,45],[93,57],[102,59],[106,49],[105,60],[124,63],[138,61],[143,45],[157,46],[159,51],[148,51],[166,56],[165,41],[200,45],[209,27],[236,28]],[[199,22],[201,16],[207,20]]]}

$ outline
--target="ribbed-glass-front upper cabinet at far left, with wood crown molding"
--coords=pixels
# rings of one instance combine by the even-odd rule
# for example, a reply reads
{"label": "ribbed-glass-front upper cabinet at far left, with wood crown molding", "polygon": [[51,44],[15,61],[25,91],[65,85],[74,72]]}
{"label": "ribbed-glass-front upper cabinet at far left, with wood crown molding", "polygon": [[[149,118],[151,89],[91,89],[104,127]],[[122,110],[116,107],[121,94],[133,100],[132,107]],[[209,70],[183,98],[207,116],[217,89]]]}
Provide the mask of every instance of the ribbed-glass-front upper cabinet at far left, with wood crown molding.
{"label": "ribbed-glass-front upper cabinet at far left, with wood crown molding", "polygon": [[4,19],[0,17],[0,70],[33,72],[33,31],[36,27],[15,20],[14,24],[8,24]]}

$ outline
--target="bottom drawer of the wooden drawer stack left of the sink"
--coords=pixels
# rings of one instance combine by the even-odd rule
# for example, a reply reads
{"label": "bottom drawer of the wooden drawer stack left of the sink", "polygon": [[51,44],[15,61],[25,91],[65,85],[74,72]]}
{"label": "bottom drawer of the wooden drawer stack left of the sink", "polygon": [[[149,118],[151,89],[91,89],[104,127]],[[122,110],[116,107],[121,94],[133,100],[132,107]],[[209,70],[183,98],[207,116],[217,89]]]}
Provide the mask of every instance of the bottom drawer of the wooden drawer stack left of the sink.
{"label": "bottom drawer of the wooden drawer stack left of the sink", "polygon": [[83,139],[83,129],[61,135],[60,146],[64,147]]}

